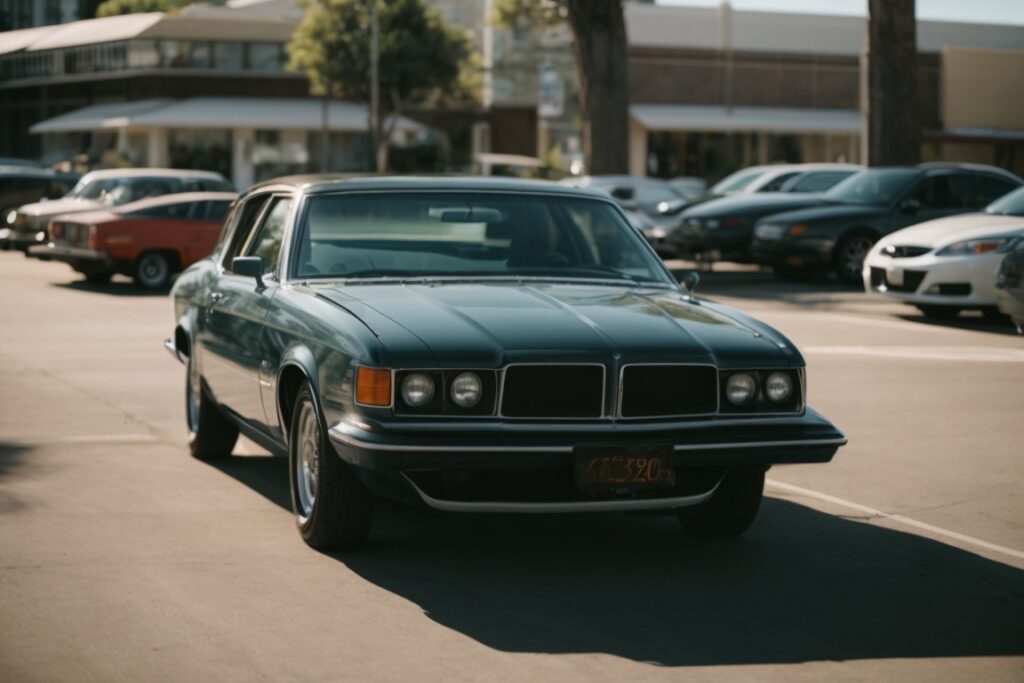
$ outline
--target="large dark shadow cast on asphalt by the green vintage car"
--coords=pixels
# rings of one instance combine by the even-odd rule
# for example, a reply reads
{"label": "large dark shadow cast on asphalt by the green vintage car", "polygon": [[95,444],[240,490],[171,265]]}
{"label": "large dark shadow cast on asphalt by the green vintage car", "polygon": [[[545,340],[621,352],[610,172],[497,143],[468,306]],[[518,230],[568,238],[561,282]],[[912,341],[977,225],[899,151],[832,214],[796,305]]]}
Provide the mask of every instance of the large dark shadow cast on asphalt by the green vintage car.
{"label": "large dark shadow cast on asphalt by the green vintage car", "polygon": [[[290,510],[283,459],[217,467]],[[671,667],[1024,654],[1024,571],[778,499],[733,543],[688,541],[671,517],[380,506],[368,546],[335,558],[507,652]]]}

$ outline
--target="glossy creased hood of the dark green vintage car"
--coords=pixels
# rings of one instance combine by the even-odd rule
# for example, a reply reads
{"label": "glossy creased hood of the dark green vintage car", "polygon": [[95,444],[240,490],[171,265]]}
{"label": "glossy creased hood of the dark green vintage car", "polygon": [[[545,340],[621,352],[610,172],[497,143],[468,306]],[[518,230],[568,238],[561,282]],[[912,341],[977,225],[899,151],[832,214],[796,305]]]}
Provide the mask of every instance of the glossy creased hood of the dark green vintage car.
{"label": "glossy creased hood of the dark green vintage car", "polygon": [[691,302],[678,290],[550,283],[312,288],[362,319],[396,367],[584,359],[802,365],[770,328],[724,307]]}

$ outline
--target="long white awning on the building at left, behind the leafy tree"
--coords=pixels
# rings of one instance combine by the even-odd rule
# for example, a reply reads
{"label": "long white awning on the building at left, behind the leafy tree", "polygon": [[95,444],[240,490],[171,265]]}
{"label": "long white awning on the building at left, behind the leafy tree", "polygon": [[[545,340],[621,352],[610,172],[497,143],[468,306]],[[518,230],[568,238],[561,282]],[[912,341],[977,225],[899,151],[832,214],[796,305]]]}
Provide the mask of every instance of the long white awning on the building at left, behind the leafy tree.
{"label": "long white awning on the building at left, behind the leafy tree", "polygon": [[[333,131],[367,130],[367,108],[332,100],[327,108],[327,128]],[[267,130],[321,130],[324,102],[319,99],[264,97],[193,97],[146,99],[117,104],[94,104],[37,123],[33,133],[67,133],[109,128],[251,128]],[[398,120],[400,131],[423,131],[426,126]]]}

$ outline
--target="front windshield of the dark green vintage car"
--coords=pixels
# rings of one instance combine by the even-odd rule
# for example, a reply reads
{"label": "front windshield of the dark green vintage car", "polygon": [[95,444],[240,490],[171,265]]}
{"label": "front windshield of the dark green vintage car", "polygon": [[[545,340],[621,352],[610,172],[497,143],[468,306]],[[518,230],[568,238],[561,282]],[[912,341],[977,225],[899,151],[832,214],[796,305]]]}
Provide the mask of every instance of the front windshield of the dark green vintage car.
{"label": "front windshield of the dark green vintage car", "polygon": [[609,203],[488,193],[323,195],[298,230],[299,278],[548,278],[675,283]]}

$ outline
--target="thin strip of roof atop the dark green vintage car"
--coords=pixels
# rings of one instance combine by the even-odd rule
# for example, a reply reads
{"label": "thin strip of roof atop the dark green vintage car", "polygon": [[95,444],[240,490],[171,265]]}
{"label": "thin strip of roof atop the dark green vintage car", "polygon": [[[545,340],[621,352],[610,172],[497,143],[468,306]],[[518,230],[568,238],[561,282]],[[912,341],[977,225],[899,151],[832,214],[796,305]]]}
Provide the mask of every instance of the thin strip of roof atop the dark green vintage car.
{"label": "thin strip of roof atop the dark green vintage car", "polygon": [[386,175],[345,175],[310,174],[292,175],[265,180],[253,185],[245,195],[261,189],[291,187],[308,195],[333,191],[381,191],[381,190],[434,190],[434,191],[496,191],[528,193],[588,197],[609,201],[604,193],[570,187],[549,180],[525,180],[505,176],[386,176]]}

